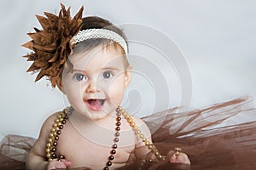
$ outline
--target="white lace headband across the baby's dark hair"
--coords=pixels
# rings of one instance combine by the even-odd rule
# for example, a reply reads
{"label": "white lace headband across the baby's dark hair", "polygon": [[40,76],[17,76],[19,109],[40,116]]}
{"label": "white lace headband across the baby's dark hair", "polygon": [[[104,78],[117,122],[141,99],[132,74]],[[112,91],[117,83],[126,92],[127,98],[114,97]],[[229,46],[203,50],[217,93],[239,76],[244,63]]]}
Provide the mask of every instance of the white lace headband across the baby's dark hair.
{"label": "white lace headband across the baby's dark hair", "polygon": [[73,37],[73,43],[82,42],[84,40],[89,40],[92,38],[106,38],[118,42],[119,45],[124,49],[125,54],[127,54],[127,44],[125,39],[121,37],[118,33],[102,28],[93,28],[88,30],[79,31],[79,33]]}

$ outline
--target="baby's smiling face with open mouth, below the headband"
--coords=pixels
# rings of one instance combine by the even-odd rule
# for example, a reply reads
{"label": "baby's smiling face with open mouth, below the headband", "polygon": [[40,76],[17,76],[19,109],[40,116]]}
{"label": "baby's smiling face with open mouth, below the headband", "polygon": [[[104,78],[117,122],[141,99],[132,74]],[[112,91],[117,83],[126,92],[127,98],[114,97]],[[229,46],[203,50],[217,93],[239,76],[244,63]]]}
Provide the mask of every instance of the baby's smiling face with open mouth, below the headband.
{"label": "baby's smiling face with open mouth, below the headband", "polygon": [[63,71],[62,88],[75,111],[92,120],[115,111],[131,79],[124,58],[121,48],[113,46],[69,57],[73,71]]}

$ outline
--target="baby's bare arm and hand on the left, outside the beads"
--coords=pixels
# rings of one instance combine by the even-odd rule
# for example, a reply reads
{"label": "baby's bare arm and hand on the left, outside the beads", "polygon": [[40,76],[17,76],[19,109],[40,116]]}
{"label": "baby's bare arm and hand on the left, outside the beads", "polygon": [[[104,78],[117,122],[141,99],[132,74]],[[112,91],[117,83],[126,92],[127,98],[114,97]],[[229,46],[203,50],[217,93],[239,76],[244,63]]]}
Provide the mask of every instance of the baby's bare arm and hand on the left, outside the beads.
{"label": "baby's bare arm and hand on the left, outside the beads", "polygon": [[44,122],[44,125],[41,128],[41,132],[38,140],[33,145],[32,150],[27,156],[26,160],[26,170],[46,170],[46,169],[55,169],[55,168],[66,168],[70,165],[69,161],[46,161],[46,144],[49,138],[49,131],[52,127],[53,122],[57,114],[49,116],[49,118]]}

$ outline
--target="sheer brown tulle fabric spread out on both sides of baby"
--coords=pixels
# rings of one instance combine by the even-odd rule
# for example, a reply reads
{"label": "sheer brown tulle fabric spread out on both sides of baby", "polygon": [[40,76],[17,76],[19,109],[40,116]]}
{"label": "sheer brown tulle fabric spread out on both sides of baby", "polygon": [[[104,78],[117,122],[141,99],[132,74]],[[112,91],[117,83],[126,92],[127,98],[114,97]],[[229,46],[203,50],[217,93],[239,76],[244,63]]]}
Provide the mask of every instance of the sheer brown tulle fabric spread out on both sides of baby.
{"label": "sheer brown tulle fabric spread out on both sides of baby", "polygon": [[[255,116],[252,99],[244,97],[215,104],[189,113],[177,108],[143,117],[152,130],[152,139],[162,155],[181,147],[191,165],[166,161],[144,162],[131,154],[125,167],[118,169],[243,169],[256,168],[256,122],[214,127],[236,115]],[[165,121],[163,122],[163,118]],[[25,169],[26,156],[35,139],[9,135],[1,142],[0,169]],[[173,152],[172,152],[173,153]],[[147,158],[148,156],[145,156]],[[73,168],[90,169],[88,167]]]}

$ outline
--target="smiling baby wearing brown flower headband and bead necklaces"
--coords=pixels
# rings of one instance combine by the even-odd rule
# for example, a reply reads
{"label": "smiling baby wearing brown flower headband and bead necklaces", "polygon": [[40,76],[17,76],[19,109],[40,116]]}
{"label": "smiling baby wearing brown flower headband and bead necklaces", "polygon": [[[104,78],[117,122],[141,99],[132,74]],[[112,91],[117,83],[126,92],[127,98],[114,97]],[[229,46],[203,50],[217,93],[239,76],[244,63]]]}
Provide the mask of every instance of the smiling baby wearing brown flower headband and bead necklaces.
{"label": "smiling baby wearing brown flower headband and bead necklaces", "polygon": [[[132,73],[124,33],[99,17],[81,19],[82,10],[73,20],[63,5],[59,17],[38,16],[44,31],[36,29],[24,45],[34,51],[26,56],[34,61],[28,71],[40,70],[37,80],[49,77],[71,105],[44,122],[26,169],[115,169],[134,160],[165,160],[147,125],[119,106]],[[190,164],[179,149],[170,154],[170,162]]]}

